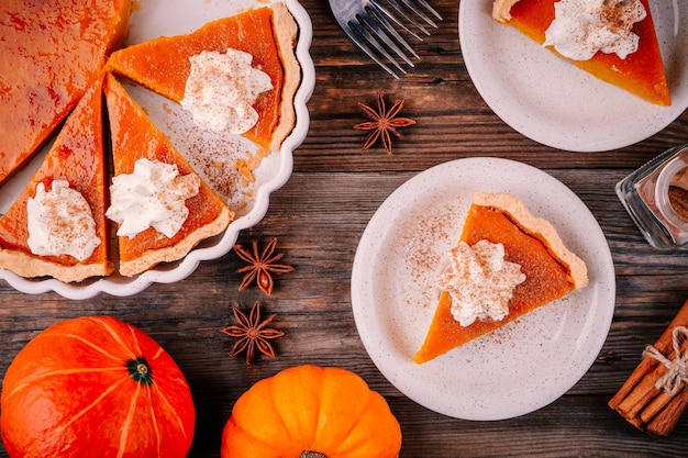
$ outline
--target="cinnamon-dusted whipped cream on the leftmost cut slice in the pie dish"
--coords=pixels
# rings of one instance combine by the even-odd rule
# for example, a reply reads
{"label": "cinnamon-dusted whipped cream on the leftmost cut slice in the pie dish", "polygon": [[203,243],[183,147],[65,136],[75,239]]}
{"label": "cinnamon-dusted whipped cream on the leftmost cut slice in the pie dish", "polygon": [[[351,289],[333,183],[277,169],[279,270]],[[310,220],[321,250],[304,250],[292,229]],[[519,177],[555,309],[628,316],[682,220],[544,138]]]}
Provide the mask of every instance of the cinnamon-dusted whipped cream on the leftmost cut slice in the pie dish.
{"label": "cinnamon-dusted whipped cream on the leftmost cut slice in the pie dish", "polygon": [[38,183],[26,201],[29,248],[37,256],[69,255],[84,261],[100,245],[88,202],[65,180],[54,180],[51,190]]}

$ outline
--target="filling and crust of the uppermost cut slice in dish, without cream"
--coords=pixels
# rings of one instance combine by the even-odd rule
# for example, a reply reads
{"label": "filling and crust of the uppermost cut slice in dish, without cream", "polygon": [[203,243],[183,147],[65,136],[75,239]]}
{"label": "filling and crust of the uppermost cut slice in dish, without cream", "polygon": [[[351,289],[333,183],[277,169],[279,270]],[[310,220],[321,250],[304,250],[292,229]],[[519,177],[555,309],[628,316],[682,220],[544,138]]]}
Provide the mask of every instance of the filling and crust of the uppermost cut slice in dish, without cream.
{"label": "filling and crust of the uppermost cut slice in dish, without cream", "polygon": [[191,72],[190,58],[202,52],[226,53],[236,49],[249,54],[252,67],[271,81],[253,108],[257,123],[244,135],[258,145],[279,149],[296,122],[293,97],[301,81],[301,70],[293,54],[298,27],[284,3],[275,3],[237,15],[209,22],[201,29],[171,37],[140,43],[112,54],[108,66],[175,102],[185,98]]}

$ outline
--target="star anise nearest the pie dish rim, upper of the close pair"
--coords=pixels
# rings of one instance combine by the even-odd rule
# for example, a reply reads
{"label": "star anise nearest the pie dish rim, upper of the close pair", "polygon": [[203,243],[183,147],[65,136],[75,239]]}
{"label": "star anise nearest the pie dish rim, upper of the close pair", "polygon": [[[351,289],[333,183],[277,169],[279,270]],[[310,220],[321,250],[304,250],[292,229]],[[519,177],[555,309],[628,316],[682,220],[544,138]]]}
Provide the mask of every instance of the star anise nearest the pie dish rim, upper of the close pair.
{"label": "star anise nearest the pie dish rim, upper of the close pair", "polygon": [[277,237],[273,238],[262,252],[258,250],[257,241],[253,241],[253,250],[246,249],[243,245],[234,245],[236,255],[248,262],[248,266],[236,269],[238,273],[246,272],[238,286],[240,291],[245,290],[255,281],[264,293],[270,295],[275,284],[273,275],[287,273],[293,270],[293,267],[287,264],[277,262],[285,255],[282,253],[275,254],[276,246]]}

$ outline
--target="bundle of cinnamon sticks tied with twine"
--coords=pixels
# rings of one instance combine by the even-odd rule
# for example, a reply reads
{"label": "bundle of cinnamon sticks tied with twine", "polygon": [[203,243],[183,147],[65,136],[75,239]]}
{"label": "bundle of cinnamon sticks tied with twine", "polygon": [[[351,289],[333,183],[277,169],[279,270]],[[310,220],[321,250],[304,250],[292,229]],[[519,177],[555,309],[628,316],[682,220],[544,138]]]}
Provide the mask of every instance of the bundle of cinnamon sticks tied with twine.
{"label": "bundle of cinnamon sticks tied with twine", "polygon": [[685,360],[688,338],[685,338],[685,333],[680,335],[676,331],[686,327],[688,301],[654,344],[654,350],[647,348],[635,370],[609,401],[609,406],[630,424],[651,435],[666,437],[672,434],[688,407],[688,388],[685,381],[675,383],[674,390],[667,389],[666,383],[663,383],[669,371],[665,362],[675,361],[676,358]]}

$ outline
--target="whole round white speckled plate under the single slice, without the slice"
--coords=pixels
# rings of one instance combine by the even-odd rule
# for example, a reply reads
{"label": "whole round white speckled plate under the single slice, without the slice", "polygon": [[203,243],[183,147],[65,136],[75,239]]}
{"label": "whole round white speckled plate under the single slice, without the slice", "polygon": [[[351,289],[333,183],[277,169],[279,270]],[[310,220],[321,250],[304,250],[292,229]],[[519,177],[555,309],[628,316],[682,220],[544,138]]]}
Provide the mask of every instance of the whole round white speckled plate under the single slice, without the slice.
{"label": "whole round white speckled plate under the single slice, without the slice", "polygon": [[[587,264],[590,283],[417,365],[439,297],[434,280],[477,190],[508,192],[547,219]],[[370,220],[352,272],[358,334],[382,375],[419,404],[465,420],[526,414],[576,384],[607,338],[614,294],[609,246],[580,199],[536,168],[496,158],[454,160],[402,185]]]}

